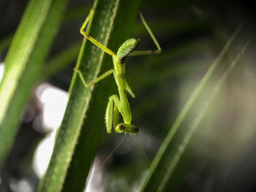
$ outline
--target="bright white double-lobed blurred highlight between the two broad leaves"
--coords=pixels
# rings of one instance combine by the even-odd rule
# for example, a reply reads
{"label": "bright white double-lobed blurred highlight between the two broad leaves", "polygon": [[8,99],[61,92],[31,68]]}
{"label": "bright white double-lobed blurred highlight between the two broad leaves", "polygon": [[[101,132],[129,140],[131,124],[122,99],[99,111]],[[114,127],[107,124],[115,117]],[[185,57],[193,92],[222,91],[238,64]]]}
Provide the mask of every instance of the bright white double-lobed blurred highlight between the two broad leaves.
{"label": "bright white double-lobed blurred highlight between the two broad leaves", "polygon": [[38,177],[42,177],[45,174],[53,152],[56,132],[64,116],[68,94],[52,85],[42,84],[37,88],[37,98],[42,103],[42,118],[45,131],[51,131],[48,137],[45,137],[40,142],[34,155],[34,171]]}

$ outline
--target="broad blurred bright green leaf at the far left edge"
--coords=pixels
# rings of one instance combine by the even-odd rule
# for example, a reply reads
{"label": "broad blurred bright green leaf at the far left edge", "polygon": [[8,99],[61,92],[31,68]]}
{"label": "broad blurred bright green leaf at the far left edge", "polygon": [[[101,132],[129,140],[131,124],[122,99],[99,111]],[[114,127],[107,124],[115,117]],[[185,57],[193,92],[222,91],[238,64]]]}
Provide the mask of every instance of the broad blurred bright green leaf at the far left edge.
{"label": "broad blurred bright green leaf at the far left edge", "polygon": [[66,0],[29,1],[4,60],[0,84],[0,167],[61,22]]}

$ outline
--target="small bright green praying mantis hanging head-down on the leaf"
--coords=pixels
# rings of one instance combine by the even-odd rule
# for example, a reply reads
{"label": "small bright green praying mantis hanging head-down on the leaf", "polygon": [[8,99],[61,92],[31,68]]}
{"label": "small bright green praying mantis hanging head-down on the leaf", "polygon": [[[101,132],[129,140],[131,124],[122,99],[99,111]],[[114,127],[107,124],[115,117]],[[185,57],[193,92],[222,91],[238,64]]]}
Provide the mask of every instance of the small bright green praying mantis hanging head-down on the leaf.
{"label": "small bright green praying mantis hanging head-down on the leaf", "polygon": [[[112,124],[113,124],[114,130],[117,133],[137,134],[139,131],[138,126],[131,124],[132,114],[129,108],[127,92],[133,98],[135,97],[135,94],[132,92],[132,89],[129,87],[125,78],[124,60],[127,56],[132,56],[132,55],[151,55],[151,54],[161,53],[161,47],[159,46],[157,39],[154,37],[154,34],[152,33],[151,29],[148,27],[146,21],[144,20],[143,15],[140,13],[140,18],[143,22],[143,25],[146,27],[146,30],[148,31],[155,45],[157,46],[157,50],[133,51],[135,47],[138,46],[139,39],[132,38],[125,41],[119,47],[117,53],[113,53],[112,50],[108,49],[108,47],[105,47],[100,42],[97,42],[96,39],[89,36],[89,34],[86,34],[86,32],[84,31],[84,28],[86,28],[86,25],[89,22],[89,19],[91,18],[91,15],[93,15],[93,13],[94,13],[94,10],[91,9],[89,16],[86,18],[86,20],[83,23],[83,26],[80,28],[80,33],[83,34],[83,36],[89,39],[92,43],[94,43],[94,45],[97,45],[97,47],[105,51],[105,53],[112,55],[114,69],[110,69],[108,72],[105,72],[104,74],[100,75],[99,77],[97,77],[96,80],[90,83],[86,83],[86,81],[83,78],[83,74],[82,72],[80,72],[79,69],[75,68],[74,70],[75,72],[78,72],[80,80],[83,82],[83,85],[85,85],[86,88],[91,85],[94,85],[95,83],[99,82],[100,80],[103,80],[105,77],[113,73],[114,78],[116,80],[116,85],[118,87],[119,96],[113,95],[109,97],[108,106],[105,113],[107,132],[108,134],[111,133]],[[118,123],[119,112],[123,117],[124,123]]]}

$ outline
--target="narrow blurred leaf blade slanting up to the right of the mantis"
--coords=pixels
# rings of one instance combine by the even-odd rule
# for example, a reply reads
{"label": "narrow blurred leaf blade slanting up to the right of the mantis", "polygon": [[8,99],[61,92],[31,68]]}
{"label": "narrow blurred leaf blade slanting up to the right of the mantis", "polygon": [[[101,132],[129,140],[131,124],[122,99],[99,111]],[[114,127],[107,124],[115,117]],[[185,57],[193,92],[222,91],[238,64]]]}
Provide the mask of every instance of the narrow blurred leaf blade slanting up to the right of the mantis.
{"label": "narrow blurred leaf blade slanting up to the right of the mantis", "polygon": [[[176,163],[179,161],[181,153],[184,151],[184,145],[178,145],[178,148],[173,149],[173,137],[176,135],[176,131],[181,126],[184,118],[187,117],[187,113],[191,109],[192,104],[194,104],[195,99],[197,99],[199,93],[203,90],[206,82],[208,82],[209,78],[211,77],[211,74],[213,74],[220,61],[222,61],[223,56],[227,53],[227,50],[229,50],[230,46],[233,44],[233,41],[238,34],[238,31],[240,31],[239,28],[236,30],[236,33],[233,34],[232,37],[230,37],[225,47],[223,47],[221,53],[219,53],[214,63],[211,64],[210,68],[195,88],[195,91],[193,91],[192,95],[189,97],[189,100],[184,105],[184,108],[181,110],[178,118],[173,123],[173,126],[170,128],[167,137],[165,137],[164,142],[162,142],[162,146],[159,148],[157,155],[154,158],[154,161],[148,169],[146,177],[144,177],[143,183],[141,185],[140,191],[165,191],[165,187],[167,185],[167,181],[172,174],[172,170],[176,166]],[[196,123],[197,121],[195,122],[195,125]],[[187,137],[184,137],[184,140],[187,142]],[[154,172],[157,173],[157,179],[154,175]]]}

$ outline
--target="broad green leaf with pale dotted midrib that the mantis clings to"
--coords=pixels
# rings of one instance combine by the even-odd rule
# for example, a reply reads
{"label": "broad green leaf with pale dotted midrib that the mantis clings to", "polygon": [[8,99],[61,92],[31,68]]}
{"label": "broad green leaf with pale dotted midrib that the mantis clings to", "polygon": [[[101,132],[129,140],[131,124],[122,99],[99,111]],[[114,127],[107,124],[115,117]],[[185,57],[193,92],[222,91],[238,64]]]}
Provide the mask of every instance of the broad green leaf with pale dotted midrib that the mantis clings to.
{"label": "broad green leaf with pale dotted midrib that the mantis clings to", "polygon": [[[122,42],[131,38],[139,6],[140,0],[94,1],[94,15],[87,32],[116,52]],[[87,82],[112,69],[112,62],[110,55],[84,39],[77,66]],[[53,155],[37,191],[83,191],[99,139],[105,131],[108,97],[116,91],[113,77],[85,88],[78,75],[74,74]]]}

